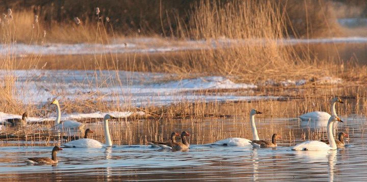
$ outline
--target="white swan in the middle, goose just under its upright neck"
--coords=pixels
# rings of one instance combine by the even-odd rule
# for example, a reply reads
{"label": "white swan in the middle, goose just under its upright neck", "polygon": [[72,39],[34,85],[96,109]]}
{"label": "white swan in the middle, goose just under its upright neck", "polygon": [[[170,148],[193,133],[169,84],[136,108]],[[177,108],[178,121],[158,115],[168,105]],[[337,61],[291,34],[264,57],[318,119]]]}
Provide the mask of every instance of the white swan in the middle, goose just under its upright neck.
{"label": "white swan in the middle, goose just under its upright neck", "polygon": [[[251,129],[252,129],[252,137],[253,137],[253,140],[260,140],[257,135],[257,130],[255,126],[255,114],[262,114],[262,112],[259,112],[255,109],[252,109],[250,111],[250,124],[251,124]],[[246,138],[227,138],[224,140],[216,141],[212,143],[212,145],[246,146],[246,145],[251,145],[250,142],[251,140],[246,139]]]}

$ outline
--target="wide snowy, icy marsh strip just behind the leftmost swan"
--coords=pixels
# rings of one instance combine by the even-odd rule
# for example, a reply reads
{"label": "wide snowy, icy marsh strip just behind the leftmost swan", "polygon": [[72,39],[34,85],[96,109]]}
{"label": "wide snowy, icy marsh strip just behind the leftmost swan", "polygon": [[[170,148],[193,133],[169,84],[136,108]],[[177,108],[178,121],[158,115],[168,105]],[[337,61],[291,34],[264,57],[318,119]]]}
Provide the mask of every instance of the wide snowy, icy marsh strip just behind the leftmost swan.
{"label": "wide snowy, icy marsh strip just behind the leftmost swan", "polygon": [[[260,83],[235,83],[231,78],[206,76],[191,79],[159,81],[170,74],[94,71],[94,70],[0,70],[0,74],[15,77],[15,98],[25,104],[45,104],[58,98],[61,102],[102,100],[129,106],[168,105],[180,102],[225,102],[279,99],[257,96],[261,86],[302,86],[307,83],[340,84],[340,78],[322,77],[319,80],[267,80]],[[101,84],[103,83],[103,84]],[[212,92],[211,90],[226,90]],[[233,91],[232,91],[233,90]],[[243,90],[238,93],[237,90]],[[237,92],[237,93],[236,93]]]}

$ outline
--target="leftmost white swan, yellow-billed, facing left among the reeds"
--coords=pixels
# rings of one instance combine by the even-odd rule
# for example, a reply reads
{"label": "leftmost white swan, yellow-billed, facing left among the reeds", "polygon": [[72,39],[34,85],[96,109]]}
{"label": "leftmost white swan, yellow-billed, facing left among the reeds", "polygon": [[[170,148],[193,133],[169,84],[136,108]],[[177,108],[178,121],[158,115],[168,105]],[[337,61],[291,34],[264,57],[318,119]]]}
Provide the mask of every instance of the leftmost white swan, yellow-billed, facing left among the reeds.
{"label": "leftmost white swan, yellow-billed, facing left among the reeds", "polygon": [[54,100],[51,102],[51,104],[54,104],[57,106],[57,116],[55,120],[55,129],[60,131],[70,131],[70,130],[79,130],[83,126],[83,124],[79,122],[75,122],[74,120],[65,120],[64,122],[60,123],[61,119],[61,110],[60,110],[60,104],[58,100]]}

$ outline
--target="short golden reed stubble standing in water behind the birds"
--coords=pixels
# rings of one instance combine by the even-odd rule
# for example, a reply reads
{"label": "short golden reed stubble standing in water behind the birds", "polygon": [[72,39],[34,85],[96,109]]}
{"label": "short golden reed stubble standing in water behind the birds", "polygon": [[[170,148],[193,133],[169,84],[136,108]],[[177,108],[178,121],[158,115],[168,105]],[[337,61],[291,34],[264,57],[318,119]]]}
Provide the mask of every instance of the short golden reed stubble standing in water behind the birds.
{"label": "short golden reed stubble standing in water behind the birds", "polygon": [[[251,138],[252,132],[249,127],[249,110],[256,108],[263,114],[256,115],[256,125],[259,126],[259,135],[261,138],[269,139],[273,133],[282,136],[280,141],[283,145],[292,145],[299,140],[319,140],[326,137],[323,128],[303,128],[299,133],[297,128],[290,125],[304,125],[304,121],[297,120],[297,116],[315,110],[330,112],[330,100],[332,96],[323,96],[319,98],[303,98],[287,101],[258,101],[258,102],[232,102],[232,103],[187,103],[186,109],[176,111],[176,108],[182,108],[182,104],[174,105],[169,109],[159,108],[146,109],[153,113],[149,116],[132,116],[127,118],[113,119],[110,121],[111,136],[115,145],[145,145],[149,140],[166,141],[168,135],[173,132],[188,131],[191,133],[191,144],[211,143],[220,139],[229,137]],[[344,104],[336,105],[336,112],[342,118],[355,117],[356,115],[367,114],[367,99],[343,98]],[[356,108],[356,106],[359,106]],[[183,114],[187,112],[187,114]],[[212,113],[211,116],[204,113]],[[267,118],[266,120],[264,118]],[[286,120],[279,125],[280,120]],[[95,131],[91,138],[104,142],[104,129],[100,123],[102,119],[86,118],[79,120],[87,127]],[[346,120],[345,122],[350,122]],[[303,124],[302,124],[303,123]],[[307,122],[306,122],[307,123]],[[7,128],[0,134],[2,145],[6,142],[25,144],[24,141],[30,141],[29,145],[43,143],[52,145],[53,142],[59,144],[65,142],[58,140],[57,134],[49,130],[54,126],[53,121],[33,124],[30,130],[14,130]],[[261,127],[260,127],[261,126]],[[353,136],[353,130],[364,130],[365,126],[359,128],[349,128]],[[295,131],[297,130],[297,132]],[[336,130],[338,132],[338,130]],[[64,135],[83,136],[80,132],[65,132]],[[363,137],[363,134],[362,136]]]}

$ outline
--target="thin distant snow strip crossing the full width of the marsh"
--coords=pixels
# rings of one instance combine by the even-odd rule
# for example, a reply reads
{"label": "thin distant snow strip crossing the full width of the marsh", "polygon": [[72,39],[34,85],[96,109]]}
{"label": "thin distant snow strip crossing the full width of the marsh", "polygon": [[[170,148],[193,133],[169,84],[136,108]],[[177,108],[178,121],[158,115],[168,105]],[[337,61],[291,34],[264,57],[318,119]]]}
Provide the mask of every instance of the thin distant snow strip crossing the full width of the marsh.
{"label": "thin distant snow strip crossing the full width of the marsh", "polygon": [[[157,42],[157,44],[153,44]],[[159,38],[137,38],[119,40],[112,44],[62,44],[48,43],[45,45],[29,44],[0,44],[0,55],[13,54],[19,57],[29,55],[87,55],[87,54],[121,54],[121,53],[164,53],[186,50],[206,50],[227,48],[236,45],[264,45],[276,43],[278,45],[297,45],[297,44],[338,44],[338,43],[364,43],[367,44],[366,37],[340,37],[340,38],[320,38],[320,39],[228,39],[200,41],[177,41]]]}

